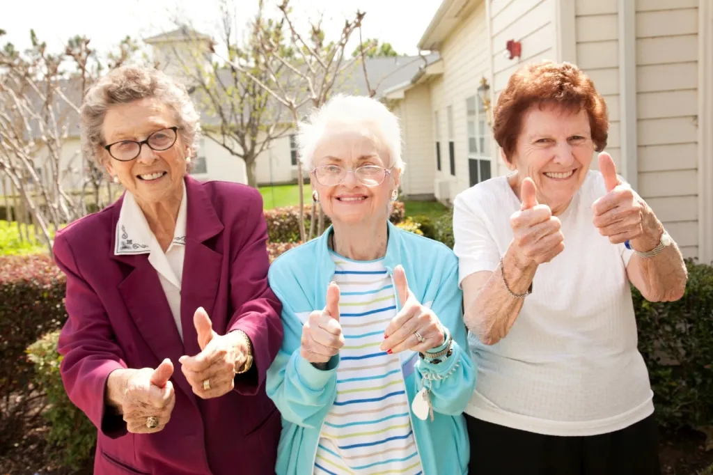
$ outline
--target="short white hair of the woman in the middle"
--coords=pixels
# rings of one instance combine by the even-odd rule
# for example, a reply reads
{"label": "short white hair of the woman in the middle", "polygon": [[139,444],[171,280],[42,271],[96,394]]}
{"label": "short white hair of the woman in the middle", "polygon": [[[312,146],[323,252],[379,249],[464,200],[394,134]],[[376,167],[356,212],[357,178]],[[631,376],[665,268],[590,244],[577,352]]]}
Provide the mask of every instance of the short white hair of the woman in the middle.
{"label": "short white hair of the woman in the middle", "polygon": [[389,153],[387,168],[397,168],[404,172],[401,159],[401,126],[399,118],[384,104],[366,96],[345,96],[337,94],[314,110],[307,121],[297,126],[297,148],[299,160],[312,168],[314,151],[324,140],[324,134],[333,126],[366,126],[381,141]]}

